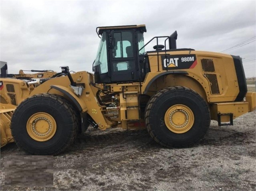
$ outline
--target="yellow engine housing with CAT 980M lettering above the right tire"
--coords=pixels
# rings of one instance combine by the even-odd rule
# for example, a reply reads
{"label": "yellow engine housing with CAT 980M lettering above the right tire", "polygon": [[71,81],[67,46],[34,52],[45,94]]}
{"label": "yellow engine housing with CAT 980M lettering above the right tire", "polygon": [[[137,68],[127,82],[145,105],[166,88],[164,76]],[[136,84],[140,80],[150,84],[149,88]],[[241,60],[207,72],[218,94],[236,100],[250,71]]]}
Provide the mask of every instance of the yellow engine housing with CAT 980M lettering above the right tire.
{"label": "yellow engine housing with CAT 980M lettering above the right tire", "polygon": [[[186,81],[193,79],[198,82],[196,86],[199,85],[204,89],[209,103],[242,101],[246,95],[245,76],[239,57],[206,51],[171,51],[167,52],[167,55],[164,52],[159,54],[158,61],[155,53],[148,54],[151,73],[148,73],[144,80],[143,91],[145,91],[149,81],[159,72],[185,71],[189,78],[175,77],[175,79],[170,78],[171,81],[166,79],[163,82],[166,85],[186,86],[188,84]],[[158,71],[158,67],[160,71]],[[164,85],[157,83],[157,87],[156,85],[151,86],[147,89],[158,91]],[[189,88],[198,91],[198,87],[193,88],[191,84],[189,86]]]}

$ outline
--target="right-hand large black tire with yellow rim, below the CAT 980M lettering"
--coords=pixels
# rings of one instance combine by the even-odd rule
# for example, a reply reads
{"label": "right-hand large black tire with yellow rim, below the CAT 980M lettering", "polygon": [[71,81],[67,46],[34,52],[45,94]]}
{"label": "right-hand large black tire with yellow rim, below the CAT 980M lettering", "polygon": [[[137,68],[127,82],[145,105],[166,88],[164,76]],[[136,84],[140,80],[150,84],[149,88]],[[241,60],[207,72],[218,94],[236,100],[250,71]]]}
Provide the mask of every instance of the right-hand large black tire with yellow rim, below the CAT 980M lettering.
{"label": "right-hand large black tire with yellow rim, below the CAT 980M lettering", "polygon": [[208,104],[187,87],[167,87],[149,100],[145,122],[151,137],[167,147],[188,147],[210,127]]}

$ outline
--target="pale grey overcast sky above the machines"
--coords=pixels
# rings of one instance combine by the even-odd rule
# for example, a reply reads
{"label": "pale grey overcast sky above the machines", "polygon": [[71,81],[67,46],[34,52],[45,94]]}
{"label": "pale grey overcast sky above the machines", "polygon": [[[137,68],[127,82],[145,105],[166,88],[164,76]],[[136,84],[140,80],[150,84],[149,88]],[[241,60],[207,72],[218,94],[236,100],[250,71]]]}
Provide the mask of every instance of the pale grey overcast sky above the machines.
{"label": "pale grey overcast sky above the machines", "polygon": [[[255,77],[256,1],[3,1],[0,61],[20,69],[92,72],[97,26],[145,24],[145,41],[178,33],[177,48],[240,55]],[[153,44],[154,45],[154,44]],[[146,47],[152,50],[153,45]]]}

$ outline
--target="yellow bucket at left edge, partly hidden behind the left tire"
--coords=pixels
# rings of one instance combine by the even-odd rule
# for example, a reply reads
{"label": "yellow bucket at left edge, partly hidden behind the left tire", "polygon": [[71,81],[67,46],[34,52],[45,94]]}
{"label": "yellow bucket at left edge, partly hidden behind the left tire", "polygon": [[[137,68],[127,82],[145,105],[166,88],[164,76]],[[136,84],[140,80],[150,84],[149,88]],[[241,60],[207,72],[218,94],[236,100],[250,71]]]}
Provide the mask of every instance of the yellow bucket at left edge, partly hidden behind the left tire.
{"label": "yellow bucket at left edge, partly hidden behind the left tire", "polygon": [[0,147],[10,142],[14,142],[10,129],[12,113],[16,106],[12,104],[0,104]]}

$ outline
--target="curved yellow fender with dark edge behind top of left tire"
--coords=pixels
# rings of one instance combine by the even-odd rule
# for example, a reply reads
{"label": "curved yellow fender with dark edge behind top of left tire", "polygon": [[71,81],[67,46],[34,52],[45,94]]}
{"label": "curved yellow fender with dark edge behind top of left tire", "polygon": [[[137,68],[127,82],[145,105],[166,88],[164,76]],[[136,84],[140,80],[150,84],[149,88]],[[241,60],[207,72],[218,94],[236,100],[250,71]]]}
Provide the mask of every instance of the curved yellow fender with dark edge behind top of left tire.
{"label": "curved yellow fender with dark edge behind top of left tire", "polygon": [[64,86],[59,86],[59,85],[51,85],[50,86],[52,89],[56,89],[66,95],[78,108],[80,112],[85,112],[87,111],[87,106],[83,100],[79,99],[75,93],[73,93],[69,88],[64,87]]}

